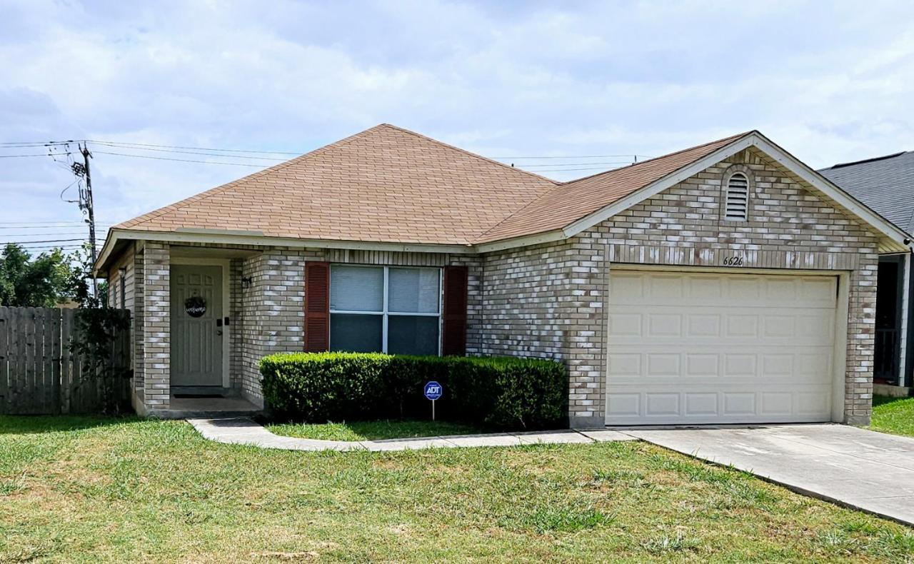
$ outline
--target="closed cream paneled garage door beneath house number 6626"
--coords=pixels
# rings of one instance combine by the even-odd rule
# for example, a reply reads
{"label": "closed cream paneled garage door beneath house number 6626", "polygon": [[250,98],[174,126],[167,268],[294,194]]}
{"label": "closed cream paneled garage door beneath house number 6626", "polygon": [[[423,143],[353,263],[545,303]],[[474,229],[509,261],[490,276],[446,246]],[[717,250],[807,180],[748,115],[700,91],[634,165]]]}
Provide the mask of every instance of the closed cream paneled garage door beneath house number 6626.
{"label": "closed cream paneled garage door beneath house number 6626", "polygon": [[829,420],[836,284],[612,271],[607,423]]}

